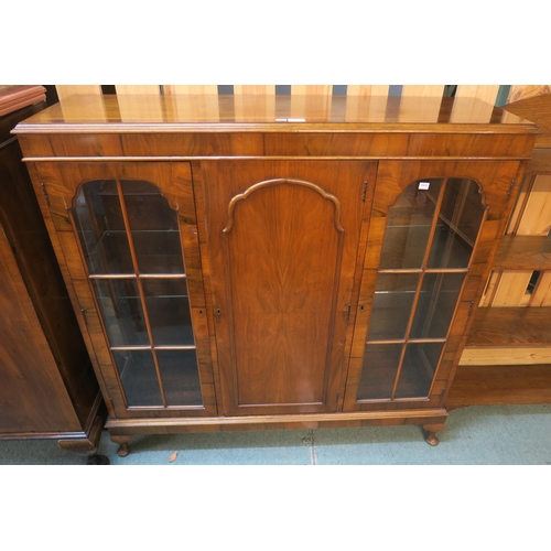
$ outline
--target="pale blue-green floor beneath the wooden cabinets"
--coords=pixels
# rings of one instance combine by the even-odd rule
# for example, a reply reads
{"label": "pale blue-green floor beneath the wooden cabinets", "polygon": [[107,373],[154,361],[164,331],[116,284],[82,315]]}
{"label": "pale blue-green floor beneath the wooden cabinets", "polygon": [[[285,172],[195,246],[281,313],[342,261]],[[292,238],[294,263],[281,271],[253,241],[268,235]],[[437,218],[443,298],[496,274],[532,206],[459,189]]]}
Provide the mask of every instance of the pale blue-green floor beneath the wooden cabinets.
{"label": "pale blue-green floor beneath the wooden cabinets", "polygon": [[[137,435],[111,465],[551,465],[551,404],[453,410],[435,447],[420,426]],[[0,465],[86,465],[56,441],[0,441]]]}

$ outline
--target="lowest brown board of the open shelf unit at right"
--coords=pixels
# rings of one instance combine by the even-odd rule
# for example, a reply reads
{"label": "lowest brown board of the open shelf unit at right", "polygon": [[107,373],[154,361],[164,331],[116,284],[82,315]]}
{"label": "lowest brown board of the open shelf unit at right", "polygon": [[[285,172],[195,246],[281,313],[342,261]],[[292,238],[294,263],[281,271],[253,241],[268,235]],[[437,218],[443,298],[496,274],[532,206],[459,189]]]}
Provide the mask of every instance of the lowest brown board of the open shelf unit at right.
{"label": "lowest brown board of the open shelf unit at right", "polygon": [[551,403],[551,365],[458,367],[446,409]]}

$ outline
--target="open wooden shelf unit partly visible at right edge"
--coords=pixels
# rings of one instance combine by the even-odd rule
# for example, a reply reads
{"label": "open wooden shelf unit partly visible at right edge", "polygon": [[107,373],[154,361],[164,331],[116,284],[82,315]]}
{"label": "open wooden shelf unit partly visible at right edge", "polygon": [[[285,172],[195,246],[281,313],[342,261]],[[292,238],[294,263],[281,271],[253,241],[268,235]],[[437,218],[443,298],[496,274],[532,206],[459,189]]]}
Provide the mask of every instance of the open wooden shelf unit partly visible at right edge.
{"label": "open wooden shelf unit partly visible at right edge", "polygon": [[[549,90],[548,90],[549,91]],[[551,94],[504,107],[538,125],[446,407],[551,402]]]}

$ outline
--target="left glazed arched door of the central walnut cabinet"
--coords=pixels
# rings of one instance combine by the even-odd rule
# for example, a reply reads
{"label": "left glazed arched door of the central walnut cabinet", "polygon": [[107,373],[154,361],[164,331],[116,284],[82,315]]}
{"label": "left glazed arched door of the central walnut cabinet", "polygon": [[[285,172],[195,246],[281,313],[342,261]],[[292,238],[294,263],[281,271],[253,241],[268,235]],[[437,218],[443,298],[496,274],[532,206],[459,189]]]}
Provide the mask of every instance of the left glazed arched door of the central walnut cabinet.
{"label": "left glazed arched door of the central walnut cabinet", "polygon": [[190,164],[36,169],[111,417],[215,415]]}

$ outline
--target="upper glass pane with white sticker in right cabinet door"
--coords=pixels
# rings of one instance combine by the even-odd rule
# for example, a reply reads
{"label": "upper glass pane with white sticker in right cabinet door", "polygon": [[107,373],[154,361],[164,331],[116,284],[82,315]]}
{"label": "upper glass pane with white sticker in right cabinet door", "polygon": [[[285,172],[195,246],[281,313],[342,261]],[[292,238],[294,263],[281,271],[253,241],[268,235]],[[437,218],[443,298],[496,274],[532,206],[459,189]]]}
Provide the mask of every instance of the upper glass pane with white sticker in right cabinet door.
{"label": "upper glass pane with white sticker in right cabinet door", "polygon": [[[389,208],[380,268],[421,268],[443,179],[412,182]],[[420,188],[421,187],[421,188]]]}

